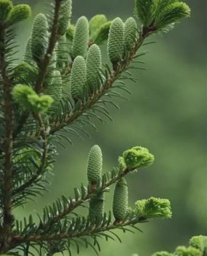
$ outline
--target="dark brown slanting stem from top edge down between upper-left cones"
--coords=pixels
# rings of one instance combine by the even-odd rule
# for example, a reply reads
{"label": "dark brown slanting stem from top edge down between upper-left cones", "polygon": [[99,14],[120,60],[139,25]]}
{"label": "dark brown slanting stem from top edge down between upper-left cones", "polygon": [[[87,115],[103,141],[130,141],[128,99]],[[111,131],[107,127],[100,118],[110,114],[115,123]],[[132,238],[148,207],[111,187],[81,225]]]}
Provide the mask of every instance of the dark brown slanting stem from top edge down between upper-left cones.
{"label": "dark brown slanting stem from top edge down between upper-left cones", "polygon": [[54,51],[55,44],[57,41],[58,17],[59,17],[59,13],[60,13],[60,7],[61,7],[61,0],[56,0],[55,1],[55,13],[54,13],[54,17],[53,17],[53,25],[52,25],[52,31],[51,31],[51,35],[50,35],[50,39],[49,39],[49,45],[48,45],[45,57],[42,60],[42,63],[39,68],[39,74],[38,74],[38,78],[37,78],[37,81],[35,84],[36,92],[41,92],[43,89],[42,87],[43,87],[44,79],[45,79],[45,76],[47,73],[47,67],[49,65],[49,62],[50,62],[50,59],[51,59],[51,56],[52,56],[52,53]]}

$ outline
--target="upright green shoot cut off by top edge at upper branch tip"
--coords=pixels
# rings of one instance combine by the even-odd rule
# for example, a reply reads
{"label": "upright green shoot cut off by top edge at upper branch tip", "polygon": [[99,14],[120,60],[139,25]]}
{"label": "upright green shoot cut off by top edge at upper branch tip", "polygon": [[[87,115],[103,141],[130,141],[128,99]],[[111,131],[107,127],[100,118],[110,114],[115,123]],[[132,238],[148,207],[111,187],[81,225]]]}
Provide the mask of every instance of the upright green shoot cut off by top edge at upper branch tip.
{"label": "upright green shoot cut off by top edge at upper branch tip", "polygon": [[138,16],[144,27],[149,26],[154,18],[156,10],[156,1],[154,0],[135,0],[135,14]]}

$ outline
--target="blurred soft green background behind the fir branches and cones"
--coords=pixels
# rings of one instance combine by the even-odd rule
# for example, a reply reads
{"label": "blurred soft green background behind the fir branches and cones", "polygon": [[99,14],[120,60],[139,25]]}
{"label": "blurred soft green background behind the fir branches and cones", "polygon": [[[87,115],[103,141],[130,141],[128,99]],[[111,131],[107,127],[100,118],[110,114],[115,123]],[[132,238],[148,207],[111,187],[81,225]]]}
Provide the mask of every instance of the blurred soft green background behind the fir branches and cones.
{"label": "blurred soft green background behind the fir branches and cones", "polygon": [[[42,1],[16,2],[29,3],[33,17],[46,12]],[[157,250],[173,251],[176,245],[187,244],[192,235],[207,234],[206,1],[187,3],[192,10],[191,19],[177,24],[169,34],[154,36],[152,41],[157,43],[141,49],[150,51],[141,58],[148,70],[135,73],[139,83],[128,82],[133,94],[130,101],[119,101],[120,111],[111,109],[114,122],[97,124],[98,132],[89,129],[92,139],[80,141],[74,137],[73,147],[67,144],[67,149],[60,148],[50,192],[25,209],[17,209],[19,218],[34,210],[40,213],[44,204],[62,194],[73,194],[73,186],[81,182],[86,184],[86,158],[92,145],[98,144],[103,150],[104,170],[116,165],[122,151],[141,145],[150,149],[156,161],[150,168],[127,177],[130,205],[150,196],[166,197],[171,200],[173,218],[141,224],[143,234],[118,232],[123,243],[103,240],[100,256],[148,256]],[[133,15],[133,0],[74,0],[72,22],[79,16],[90,19],[97,13],[106,14],[108,19],[119,16],[125,20]],[[17,28],[20,57],[33,17]],[[106,46],[102,53],[107,61]],[[112,193],[107,196],[106,210],[111,203]],[[95,253],[83,249],[81,255]]]}

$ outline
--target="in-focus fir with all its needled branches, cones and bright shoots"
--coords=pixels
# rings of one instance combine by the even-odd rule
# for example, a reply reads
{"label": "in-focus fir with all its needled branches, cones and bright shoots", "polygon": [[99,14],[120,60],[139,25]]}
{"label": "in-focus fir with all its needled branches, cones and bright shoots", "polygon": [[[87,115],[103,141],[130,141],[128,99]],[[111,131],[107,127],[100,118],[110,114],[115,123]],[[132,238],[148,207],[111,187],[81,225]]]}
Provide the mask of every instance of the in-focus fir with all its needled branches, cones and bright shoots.
{"label": "in-focus fir with all its needled branches, cones and bright shoots", "polygon": [[[82,242],[98,253],[100,237],[120,241],[112,230],[140,230],[139,223],[172,215],[168,199],[151,197],[128,205],[125,176],[154,162],[148,149],[125,150],[117,166],[105,172],[102,150],[95,145],[88,155],[88,184],[75,187],[74,198],[62,196],[45,206],[38,221],[32,215],[24,221],[14,217],[15,207],[47,189],[57,143],[72,144],[71,134],[89,135],[86,127],[96,129],[96,119],[112,120],[107,106],[119,108],[114,98],[130,93],[125,81],[136,82],[131,69],[144,69],[133,64],[143,63],[139,58],[145,54],[140,52],[145,39],[190,16],[189,7],[177,0],[135,0],[141,25],[133,17],[111,22],[98,14],[89,22],[82,16],[74,26],[71,0],[54,0],[49,11],[50,16],[34,18],[24,61],[16,65],[14,25],[30,17],[31,10],[0,0],[0,254],[28,256],[36,251],[52,256],[68,250],[71,255],[71,246],[79,253]],[[104,43],[112,68],[102,64],[98,45]],[[113,184],[113,212],[106,213],[105,193]],[[88,202],[88,214],[82,216],[76,210]],[[177,248],[176,255],[199,256],[203,251],[204,256],[206,239],[198,236],[189,248]]]}

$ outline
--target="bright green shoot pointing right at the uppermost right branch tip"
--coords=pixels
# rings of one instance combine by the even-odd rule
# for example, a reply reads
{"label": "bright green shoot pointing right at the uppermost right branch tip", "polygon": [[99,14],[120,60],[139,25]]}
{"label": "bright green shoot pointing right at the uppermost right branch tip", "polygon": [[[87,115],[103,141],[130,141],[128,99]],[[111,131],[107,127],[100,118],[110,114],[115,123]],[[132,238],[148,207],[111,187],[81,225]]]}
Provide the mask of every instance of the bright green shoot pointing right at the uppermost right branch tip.
{"label": "bright green shoot pointing right at the uppermost right branch tip", "polygon": [[156,17],[155,27],[161,29],[169,24],[190,17],[190,8],[186,3],[174,2],[167,5]]}

